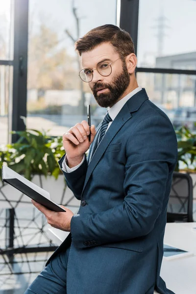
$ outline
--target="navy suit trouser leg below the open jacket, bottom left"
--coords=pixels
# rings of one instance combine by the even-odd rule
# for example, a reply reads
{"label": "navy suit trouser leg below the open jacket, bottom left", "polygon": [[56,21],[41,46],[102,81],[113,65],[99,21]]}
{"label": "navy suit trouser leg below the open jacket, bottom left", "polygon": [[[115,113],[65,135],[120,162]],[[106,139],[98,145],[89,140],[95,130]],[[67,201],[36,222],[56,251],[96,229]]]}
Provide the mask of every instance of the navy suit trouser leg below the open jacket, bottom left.
{"label": "navy suit trouser leg below the open jacket, bottom left", "polygon": [[70,247],[57,254],[24,294],[67,294],[66,276]]}

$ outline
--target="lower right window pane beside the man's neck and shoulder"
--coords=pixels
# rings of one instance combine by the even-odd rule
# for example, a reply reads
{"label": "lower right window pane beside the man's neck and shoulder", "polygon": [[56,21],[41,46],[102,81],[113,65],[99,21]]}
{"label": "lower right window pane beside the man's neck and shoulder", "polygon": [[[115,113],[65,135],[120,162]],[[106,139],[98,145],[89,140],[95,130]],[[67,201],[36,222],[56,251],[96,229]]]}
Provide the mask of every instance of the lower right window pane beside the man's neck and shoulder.
{"label": "lower right window pane beside the man's neck and shoulder", "polygon": [[196,76],[166,73],[137,73],[138,84],[149,99],[170,118],[174,127],[196,130]]}

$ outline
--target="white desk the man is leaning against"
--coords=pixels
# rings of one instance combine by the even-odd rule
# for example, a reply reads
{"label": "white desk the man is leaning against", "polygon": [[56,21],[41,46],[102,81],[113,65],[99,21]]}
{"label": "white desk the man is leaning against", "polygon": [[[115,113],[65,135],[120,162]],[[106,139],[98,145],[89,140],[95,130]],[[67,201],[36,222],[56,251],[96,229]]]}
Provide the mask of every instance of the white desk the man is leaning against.
{"label": "white desk the man is leaning against", "polygon": [[[161,277],[175,294],[196,294],[196,222],[167,223],[164,243],[193,252],[193,256],[173,260],[163,258]],[[68,232],[49,228],[49,235],[58,245],[65,240]],[[157,294],[154,291],[154,294]]]}

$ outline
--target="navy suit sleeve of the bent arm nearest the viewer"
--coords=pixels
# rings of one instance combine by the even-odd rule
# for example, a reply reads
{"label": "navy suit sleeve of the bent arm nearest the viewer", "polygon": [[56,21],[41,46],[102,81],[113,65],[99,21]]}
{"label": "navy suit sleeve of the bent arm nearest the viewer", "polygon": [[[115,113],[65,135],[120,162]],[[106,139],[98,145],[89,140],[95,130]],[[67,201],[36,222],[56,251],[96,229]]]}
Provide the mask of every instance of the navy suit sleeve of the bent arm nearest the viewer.
{"label": "navy suit sleeve of the bent arm nearest the viewer", "polygon": [[[169,172],[177,162],[177,141],[172,123],[162,116],[143,119],[126,144],[124,192],[121,205],[71,220],[73,243],[78,248],[120,242],[147,235],[162,211]],[[93,246],[93,245],[92,245]]]}

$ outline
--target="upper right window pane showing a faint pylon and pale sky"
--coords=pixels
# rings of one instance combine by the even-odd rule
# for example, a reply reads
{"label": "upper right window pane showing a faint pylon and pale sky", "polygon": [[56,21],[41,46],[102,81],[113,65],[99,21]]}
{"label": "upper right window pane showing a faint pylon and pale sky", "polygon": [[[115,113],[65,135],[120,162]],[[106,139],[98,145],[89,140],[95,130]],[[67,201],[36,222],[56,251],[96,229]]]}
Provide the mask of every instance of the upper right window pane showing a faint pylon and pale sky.
{"label": "upper right window pane showing a faint pylon and pale sky", "polygon": [[196,70],[196,1],[140,0],[138,67]]}

